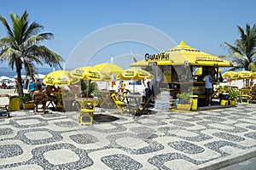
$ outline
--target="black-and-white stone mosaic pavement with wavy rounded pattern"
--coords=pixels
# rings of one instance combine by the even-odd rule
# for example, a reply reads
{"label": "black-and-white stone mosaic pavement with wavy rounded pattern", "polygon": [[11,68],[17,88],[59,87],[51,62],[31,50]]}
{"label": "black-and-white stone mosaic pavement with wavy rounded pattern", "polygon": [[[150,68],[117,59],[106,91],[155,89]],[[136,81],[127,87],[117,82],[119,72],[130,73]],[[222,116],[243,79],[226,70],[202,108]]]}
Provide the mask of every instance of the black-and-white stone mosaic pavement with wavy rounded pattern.
{"label": "black-and-white stone mosaic pavement with wavy rounded pattern", "polygon": [[[254,156],[256,105],[133,117],[96,108],[0,119],[0,169],[215,169]],[[237,161],[237,160],[236,160]]]}

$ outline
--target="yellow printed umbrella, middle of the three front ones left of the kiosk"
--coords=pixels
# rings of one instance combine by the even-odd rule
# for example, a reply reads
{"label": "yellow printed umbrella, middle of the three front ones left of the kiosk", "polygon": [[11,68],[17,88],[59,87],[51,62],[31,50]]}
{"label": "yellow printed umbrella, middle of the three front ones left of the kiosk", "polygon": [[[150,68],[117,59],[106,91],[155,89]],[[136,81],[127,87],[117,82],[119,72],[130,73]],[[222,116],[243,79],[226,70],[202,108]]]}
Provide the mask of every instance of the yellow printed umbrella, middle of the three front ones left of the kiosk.
{"label": "yellow printed umbrella, middle of the three front ones left of the kiosk", "polygon": [[102,72],[93,66],[79,67],[73,71],[70,71],[70,74],[72,77],[76,77],[82,80],[102,81],[104,79]]}

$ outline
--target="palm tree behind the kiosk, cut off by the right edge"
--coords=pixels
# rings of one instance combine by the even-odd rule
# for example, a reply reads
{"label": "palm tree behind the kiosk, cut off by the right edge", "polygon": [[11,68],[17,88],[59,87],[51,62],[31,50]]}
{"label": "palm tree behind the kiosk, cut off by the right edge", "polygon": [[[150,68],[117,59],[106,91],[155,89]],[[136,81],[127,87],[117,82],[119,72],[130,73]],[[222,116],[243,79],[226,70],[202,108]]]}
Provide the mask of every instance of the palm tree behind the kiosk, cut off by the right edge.
{"label": "palm tree behind the kiosk, cut off by the right edge", "polygon": [[238,64],[238,69],[246,71],[256,71],[256,25],[253,27],[246,25],[246,30],[237,26],[240,38],[236,39],[235,46],[224,42],[224,46],[229,48],[230,55],[222,55],[228,57]]}

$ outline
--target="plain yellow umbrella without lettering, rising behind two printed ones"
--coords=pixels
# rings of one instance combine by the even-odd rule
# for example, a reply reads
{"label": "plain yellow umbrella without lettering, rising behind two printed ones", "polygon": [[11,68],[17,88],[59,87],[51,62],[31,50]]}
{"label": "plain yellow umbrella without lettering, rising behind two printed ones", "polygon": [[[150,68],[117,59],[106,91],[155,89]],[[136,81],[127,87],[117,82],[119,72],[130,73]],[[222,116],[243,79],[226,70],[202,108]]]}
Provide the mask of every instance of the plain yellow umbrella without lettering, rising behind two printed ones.
{"label": "plain yellow umbrella without lettering, rising behind two printed ones", "polygon": [[108,75],[118,75],[121,71],[124,70],[119,65],[115,65],[112,63],[102,63],[99,65],[95,65],[94,67]]}

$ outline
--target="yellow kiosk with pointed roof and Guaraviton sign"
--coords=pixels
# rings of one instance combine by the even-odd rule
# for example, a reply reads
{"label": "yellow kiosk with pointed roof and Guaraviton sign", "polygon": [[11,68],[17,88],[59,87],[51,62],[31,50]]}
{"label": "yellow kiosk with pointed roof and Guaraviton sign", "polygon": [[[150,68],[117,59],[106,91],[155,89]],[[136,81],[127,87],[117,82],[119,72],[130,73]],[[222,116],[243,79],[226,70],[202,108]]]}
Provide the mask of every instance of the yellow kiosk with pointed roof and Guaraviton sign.
{"label": "yellow kiosk with pointed roof and Guaraviton sign", "polygon": [[[145,54],[145,59],[131,64],[131,66],[146,65],[156,65],[160,68],[163,74],[162,82],[168,84],[167,87],[174,98],[177,93],[189,91],[202,99],[199,105],[204,105],[205,84],[202,78],[210,72],[212,83],[215,84],[219,78],[218,68],[232,67],[233,63],[192,48],[182,41],[160,54]],[[201,69],[202,74],[193,75],[198,69]]]}

